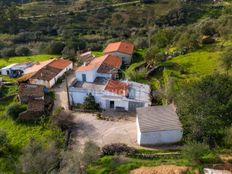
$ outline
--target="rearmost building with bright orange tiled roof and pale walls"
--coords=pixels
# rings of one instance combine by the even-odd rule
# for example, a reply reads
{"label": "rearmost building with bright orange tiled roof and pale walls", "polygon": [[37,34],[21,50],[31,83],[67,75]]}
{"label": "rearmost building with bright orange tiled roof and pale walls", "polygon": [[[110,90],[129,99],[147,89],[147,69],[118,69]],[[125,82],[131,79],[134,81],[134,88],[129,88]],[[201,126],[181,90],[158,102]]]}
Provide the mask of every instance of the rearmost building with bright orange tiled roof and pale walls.
{"label": "rearmost building with bright orange tiled roof and pale walls", "polygon": [[124,64],[130,64],[134,53],[134,45],[129,42],[114,42],[108,44],[103,52],[120,57]]}

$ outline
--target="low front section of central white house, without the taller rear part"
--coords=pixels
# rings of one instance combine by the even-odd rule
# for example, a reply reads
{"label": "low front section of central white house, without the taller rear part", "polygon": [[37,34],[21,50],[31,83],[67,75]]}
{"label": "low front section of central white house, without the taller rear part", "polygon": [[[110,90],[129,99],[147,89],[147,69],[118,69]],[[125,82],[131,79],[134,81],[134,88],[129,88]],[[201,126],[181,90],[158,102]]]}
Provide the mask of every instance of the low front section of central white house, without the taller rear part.
{"label": "low front section of central white house, without the taller rear part", "polygon": [[97,77],[94,82],[74,81],[69,87],[71,103],[82,104],[91,93],[103,109],[134,111],[150,106],[150,87],[135,82]]}

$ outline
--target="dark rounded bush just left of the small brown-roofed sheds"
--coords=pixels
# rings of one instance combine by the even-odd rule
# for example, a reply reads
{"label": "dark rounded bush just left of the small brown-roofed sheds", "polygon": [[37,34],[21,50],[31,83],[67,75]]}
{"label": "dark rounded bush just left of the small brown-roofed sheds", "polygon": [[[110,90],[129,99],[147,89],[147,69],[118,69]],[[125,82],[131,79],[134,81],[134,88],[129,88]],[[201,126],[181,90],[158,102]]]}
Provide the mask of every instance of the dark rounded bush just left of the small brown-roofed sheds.
{"label": "dark rounded bush just left of the small brown-roofed sheds", "polygon": [[14,120],[17,120],[19,114],[25,111],[26,109],[27,109],[26,105],[22,105],[20,103],[13,103],[7,108],[6,115]]}

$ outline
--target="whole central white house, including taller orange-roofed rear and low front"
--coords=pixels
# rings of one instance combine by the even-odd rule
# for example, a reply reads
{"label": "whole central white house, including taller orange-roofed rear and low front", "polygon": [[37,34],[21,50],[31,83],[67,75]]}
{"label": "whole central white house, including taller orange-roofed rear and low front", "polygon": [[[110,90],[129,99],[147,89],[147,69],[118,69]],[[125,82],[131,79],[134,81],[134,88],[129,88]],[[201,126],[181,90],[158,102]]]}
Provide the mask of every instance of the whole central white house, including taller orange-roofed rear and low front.
{"label": "whole central white house, including taller orange-roofed rear and low front", "polygon": [[76,71],[76,80],[69,87],[72,105],[82,104],[91,93],[103,109],[135,110],[150,103],[150,87],[135,82],[113,80],[120,68],[120,58],[105,55],[95,58]]}

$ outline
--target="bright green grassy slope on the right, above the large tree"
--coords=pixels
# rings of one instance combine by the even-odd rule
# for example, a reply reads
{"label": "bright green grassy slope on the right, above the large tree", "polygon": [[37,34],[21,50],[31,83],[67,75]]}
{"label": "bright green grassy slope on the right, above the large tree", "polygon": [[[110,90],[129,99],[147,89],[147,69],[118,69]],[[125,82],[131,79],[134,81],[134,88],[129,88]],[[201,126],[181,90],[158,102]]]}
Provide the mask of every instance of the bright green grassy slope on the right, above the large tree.
{"label": "bright green grassy slope on the right, above the large tree", "polygon": [[174,88],[179,89],[183,83],[210,75],[215,72],[224,72],[221,66],[221,51],[198,50],[186,55],[180,55],[164,63],[165,69],[157,79],[168,84],[170,78],[174,80]]}

